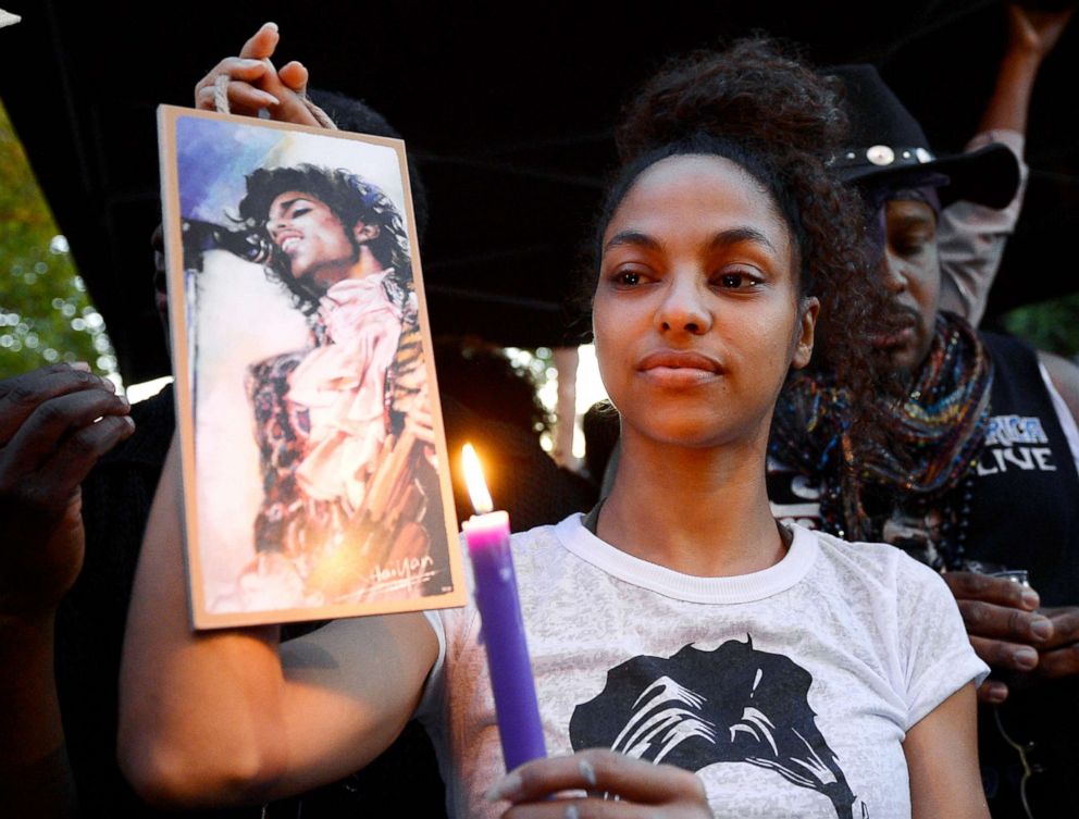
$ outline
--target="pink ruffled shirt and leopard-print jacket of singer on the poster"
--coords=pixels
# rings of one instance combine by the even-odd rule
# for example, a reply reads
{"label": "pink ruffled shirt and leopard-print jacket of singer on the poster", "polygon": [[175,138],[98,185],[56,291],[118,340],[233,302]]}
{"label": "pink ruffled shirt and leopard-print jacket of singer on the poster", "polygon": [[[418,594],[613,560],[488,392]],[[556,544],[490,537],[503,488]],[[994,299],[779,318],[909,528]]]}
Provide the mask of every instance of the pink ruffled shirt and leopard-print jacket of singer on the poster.
{"label": "pink ruffled shirt and leopard-print jacket of singer on the poster", "polygon": [[386,438],[386,373],[401,334],[392,271],[333,285],[315,322],[320,343],[251,368],[249,394],[262,460],[260,551],[303,548],[335,514],[363,501],[369,464]]}

